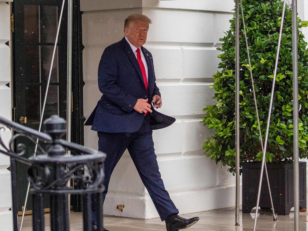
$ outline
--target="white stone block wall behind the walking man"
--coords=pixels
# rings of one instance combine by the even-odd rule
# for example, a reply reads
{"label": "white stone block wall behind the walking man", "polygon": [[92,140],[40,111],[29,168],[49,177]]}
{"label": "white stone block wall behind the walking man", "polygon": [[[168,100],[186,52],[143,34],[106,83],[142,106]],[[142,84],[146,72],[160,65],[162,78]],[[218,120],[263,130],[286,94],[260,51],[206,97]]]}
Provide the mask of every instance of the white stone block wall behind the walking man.
{"label": "white stone block wall behind the walking man", "polygon": [[[150,25],[144,45],[153,55],[163,107],[176,118],[172,126],[153,132],[165,187],[180,213],[235,205],[232,174],[206,158],[202,145],[209,131],[202,126],[205,104],[212,103],[216,47],[229,29],[234,3],[229,0],[116,1],[81,0],[83,13],[84,115],[99,100],[97,68],[105,47],[123,38],[124,19],[145,14]],[[97,148],[97,135],[85,127],[85,145]],[[125,205],[124,212],[116,205]],[[158,217],[140,177],[125,153],[111,176],[104,213],[138,218]]]}

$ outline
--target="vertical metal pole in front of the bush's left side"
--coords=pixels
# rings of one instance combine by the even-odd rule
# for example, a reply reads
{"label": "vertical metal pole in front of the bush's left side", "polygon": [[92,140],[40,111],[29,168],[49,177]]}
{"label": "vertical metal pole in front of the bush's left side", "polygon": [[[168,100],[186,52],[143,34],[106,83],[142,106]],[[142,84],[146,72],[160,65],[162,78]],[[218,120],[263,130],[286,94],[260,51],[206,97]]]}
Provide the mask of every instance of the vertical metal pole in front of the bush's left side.
{"label": "vertical metal pole in front of the bush's left side", "polygon": [[235,1],[235,225],[240,225],[240,1]]}

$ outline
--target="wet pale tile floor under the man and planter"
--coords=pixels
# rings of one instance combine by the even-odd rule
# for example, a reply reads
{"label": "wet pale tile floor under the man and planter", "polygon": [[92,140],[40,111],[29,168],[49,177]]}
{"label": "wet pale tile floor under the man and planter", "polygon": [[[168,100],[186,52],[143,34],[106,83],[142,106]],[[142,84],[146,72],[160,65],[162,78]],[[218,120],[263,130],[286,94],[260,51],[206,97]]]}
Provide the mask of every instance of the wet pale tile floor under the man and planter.
{"label": "wet pale tile floor under the man and planter", "polygon": [[[235,209],[216,209],[201,213],[191,213],[181,215],[182,217],[200,217],[200,220],[187,231],[253,231],[253,223],[255,213],[241,213],[240,211],[240,226],[235,224]],[[261,211],[258,217],[256,231],[277,230],[277,231],[292,231],[294,230],[294,213],[291,212],[289,216],[277,216],[277,221],[273,221],[270,211]],[[49,225],[49,214],[45,215],[45,224]],[[308,231],[308,214],[300,213],[299,230]],[[32,231],[32,217],[25,217],[22,231]],[[126,217],[104,217],[104,226],[110,231],[165,231],[165,224],[159,218],[155,219],[134,219]],[[45,231],[50,231],[47,226]],[[82,228],[82,214],[71,213],[71,231],[83,231]]]}

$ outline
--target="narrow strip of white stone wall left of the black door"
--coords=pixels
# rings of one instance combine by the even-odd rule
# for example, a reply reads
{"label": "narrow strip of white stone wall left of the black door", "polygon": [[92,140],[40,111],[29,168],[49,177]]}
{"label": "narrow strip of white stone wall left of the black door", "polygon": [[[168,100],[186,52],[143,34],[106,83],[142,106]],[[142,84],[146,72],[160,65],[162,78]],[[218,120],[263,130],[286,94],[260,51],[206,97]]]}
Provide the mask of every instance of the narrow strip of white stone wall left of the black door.
{"label": "narrow strip of white stone wall left of the black door", "polygon": [[[0,116],[11,119],[11,90],[6,84],[11,80],[10,48],[5,44],[10,40],[10,6],[7,0],[0,0]],[[0,125],[0,127],[2,127]],[[11,138],[9,129],[1,131],[1,137],[8,144]],[[0,154],[0,230],[13,230],[11,199],[11,174],[7,168],[10,159]]]}

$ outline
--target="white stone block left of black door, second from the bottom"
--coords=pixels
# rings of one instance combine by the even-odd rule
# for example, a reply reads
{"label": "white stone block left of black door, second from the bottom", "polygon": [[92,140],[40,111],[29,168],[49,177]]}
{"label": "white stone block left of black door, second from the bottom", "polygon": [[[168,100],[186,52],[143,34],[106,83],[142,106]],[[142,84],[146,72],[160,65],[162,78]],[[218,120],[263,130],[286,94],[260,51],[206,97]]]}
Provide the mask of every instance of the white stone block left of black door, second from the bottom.
{"label": "white stone block left of black door, second from the bottom", "polygon": [[0,211],[10,209],[12,206],[11,172],[7,169],[0,169]]}

